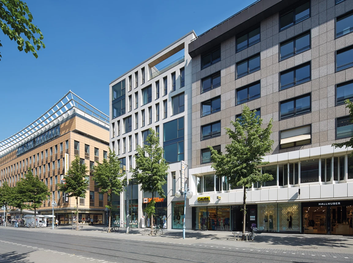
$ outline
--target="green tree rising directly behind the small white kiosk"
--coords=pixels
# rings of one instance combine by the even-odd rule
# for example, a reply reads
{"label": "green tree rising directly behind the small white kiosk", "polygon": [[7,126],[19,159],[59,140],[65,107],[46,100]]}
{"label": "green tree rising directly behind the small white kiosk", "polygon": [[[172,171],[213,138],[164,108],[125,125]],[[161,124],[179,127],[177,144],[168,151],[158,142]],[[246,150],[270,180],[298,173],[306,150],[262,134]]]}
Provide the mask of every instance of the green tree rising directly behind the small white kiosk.
{"label": "green tree rising directly behind the small white kiosk", "polygon": [[34,210],[34,221],[36,222],[36,210],[43,201],[46,201],[50,196],[48,186],[42,182],[38,176],[33,175],[31,169],[25,174],[25,178],[21,178],[19,184],[22,185],[22,190],[25,194],[26,202],[29,202],[29,209]]}

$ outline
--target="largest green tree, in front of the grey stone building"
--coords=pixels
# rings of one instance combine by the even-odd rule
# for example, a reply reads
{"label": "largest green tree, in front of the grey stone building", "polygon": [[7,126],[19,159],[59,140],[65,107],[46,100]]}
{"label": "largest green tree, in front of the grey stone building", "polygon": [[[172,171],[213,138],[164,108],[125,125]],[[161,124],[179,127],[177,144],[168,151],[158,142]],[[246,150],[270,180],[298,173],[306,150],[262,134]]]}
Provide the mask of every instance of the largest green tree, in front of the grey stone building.
{"label": "largest green tree, in front of the grey stone building", "polygon": [[[262,118],[256,116],[256,110],[250,111],[249,107],[243,105],[243,112],[240,118],[231,121],[234,131],[226,129],[230,144],[225,146],[226,154],[218,153],[211,146],[211,156],[217,177],[225,176],[232,188],[242,186],[243,195],[243,233],[246,225],[246,187],[252,187],[253,183],[273,180],[267,173],[262,174],[258,166],[269,164],[264,162],[262,156],[270,152],[273,140],[270,139],[272,133],[272,119],[265,129],[262,126]],[[244,238],[244,236],[243,236]]]}

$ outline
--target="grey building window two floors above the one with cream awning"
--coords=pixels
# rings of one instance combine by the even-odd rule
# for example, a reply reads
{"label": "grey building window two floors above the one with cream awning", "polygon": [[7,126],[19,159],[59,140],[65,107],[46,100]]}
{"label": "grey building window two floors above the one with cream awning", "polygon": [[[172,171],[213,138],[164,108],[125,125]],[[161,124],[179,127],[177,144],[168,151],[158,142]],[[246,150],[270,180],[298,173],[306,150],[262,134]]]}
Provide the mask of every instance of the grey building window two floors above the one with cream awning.
{"label": "grey building window two floors above the one with cream awning", "polygon": [[311,79],[310,63],[301,64],[280,73],[280,89],[293,87]]}

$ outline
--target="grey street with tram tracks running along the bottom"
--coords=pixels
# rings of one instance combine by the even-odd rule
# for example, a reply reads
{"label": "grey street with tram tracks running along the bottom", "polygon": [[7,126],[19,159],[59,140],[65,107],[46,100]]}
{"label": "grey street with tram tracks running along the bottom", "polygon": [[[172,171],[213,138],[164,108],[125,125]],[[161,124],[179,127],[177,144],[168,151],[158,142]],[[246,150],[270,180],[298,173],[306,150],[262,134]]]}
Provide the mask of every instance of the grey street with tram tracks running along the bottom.
{"label": "grey street with tram tracks running along the bottom", "polygon": [[74,236],[0,228],[0,263],[353,262],[353,254]]}

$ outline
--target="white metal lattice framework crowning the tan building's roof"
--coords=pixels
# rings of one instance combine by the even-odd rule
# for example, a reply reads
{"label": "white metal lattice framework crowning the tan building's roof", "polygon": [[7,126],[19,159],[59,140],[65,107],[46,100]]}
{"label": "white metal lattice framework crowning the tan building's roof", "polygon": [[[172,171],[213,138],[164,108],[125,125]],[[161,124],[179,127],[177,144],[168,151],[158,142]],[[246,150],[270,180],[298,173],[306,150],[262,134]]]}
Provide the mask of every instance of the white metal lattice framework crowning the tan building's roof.
{"label": "white metal lattice framework crowning the tan building's roof", "polygon": [[11,152],[26,141],[34,138],[75,113],[109,129],[109,116],[70,90],[64,97],[55,103],[52,108],[37,118],[34,122],[11,137],[0,141],[0,156]]}

